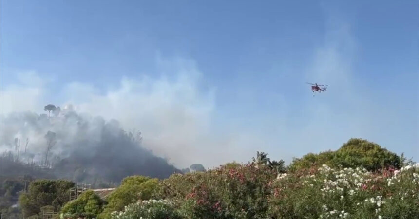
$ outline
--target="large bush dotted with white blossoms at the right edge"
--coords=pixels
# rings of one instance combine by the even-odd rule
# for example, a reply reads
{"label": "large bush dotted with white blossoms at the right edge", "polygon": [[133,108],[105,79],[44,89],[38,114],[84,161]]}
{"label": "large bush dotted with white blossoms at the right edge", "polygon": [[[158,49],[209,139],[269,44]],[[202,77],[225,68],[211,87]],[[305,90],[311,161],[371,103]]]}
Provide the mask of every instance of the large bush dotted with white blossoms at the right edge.
{"label": "large bush dotted with white blossoms at the right edge", "polygon": [[371,173],[363,168],[278,179],[269,197],[275,218],[415,218],[419,215],[419,165]]}

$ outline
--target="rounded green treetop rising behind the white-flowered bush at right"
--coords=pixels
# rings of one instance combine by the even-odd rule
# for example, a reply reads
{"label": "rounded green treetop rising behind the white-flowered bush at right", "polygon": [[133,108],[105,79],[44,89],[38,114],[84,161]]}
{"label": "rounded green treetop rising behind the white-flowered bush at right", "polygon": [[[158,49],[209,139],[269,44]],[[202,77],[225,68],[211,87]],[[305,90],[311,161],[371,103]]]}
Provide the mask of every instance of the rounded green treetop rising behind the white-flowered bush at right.
{"label": "rounded green treetop rising behind the white-flowered bush at right", "polygon": [[375,143],[352,138],[337,151],[310,153],[303,158],[294,159],[289,170],[297,171],[322,164],[334,168],[363,167],[369,171],[378,171],[389,167],[398,169],[402,166],[403,159]]}

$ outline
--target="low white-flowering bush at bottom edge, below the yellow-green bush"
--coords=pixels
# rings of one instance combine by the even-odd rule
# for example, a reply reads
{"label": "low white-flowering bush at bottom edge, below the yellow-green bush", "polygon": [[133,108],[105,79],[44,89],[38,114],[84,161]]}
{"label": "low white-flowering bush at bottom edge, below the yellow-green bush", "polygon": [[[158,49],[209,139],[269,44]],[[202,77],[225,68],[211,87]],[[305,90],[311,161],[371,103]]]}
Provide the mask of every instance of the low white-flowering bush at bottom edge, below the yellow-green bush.
{"label": "low white-flowering bush at bottom edge, below the yellow-green bush", "polygon": [[112,219],[181,219],[173,204],[167,200],[138,201],[123,211],[111,214]]}

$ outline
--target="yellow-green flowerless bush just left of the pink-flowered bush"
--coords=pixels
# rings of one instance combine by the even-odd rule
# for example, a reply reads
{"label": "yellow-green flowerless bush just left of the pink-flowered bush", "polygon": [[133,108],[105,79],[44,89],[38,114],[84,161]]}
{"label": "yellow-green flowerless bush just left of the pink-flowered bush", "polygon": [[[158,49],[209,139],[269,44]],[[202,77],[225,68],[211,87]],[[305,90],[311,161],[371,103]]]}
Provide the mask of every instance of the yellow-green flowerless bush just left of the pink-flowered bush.
{"label": "yellow-green flowerless bush just left of the pink-flowered bush", "polygon": [[109,219],[114,211],[121,211],[125,206],[135,203],[138,200],[149,200],[152,198],[158,186],[158,180],[144,176],[131,176],[122,180],[121,185],[112,192],[102,214],[101,219]]}

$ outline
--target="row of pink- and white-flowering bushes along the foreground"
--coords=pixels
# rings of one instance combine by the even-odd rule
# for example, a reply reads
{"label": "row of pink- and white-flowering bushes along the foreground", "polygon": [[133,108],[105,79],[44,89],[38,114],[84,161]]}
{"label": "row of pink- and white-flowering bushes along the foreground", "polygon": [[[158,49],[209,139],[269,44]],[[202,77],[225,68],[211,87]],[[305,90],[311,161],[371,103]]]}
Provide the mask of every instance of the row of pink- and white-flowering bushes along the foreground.
{"label": "row of pink- and white-flowering bushes along the foreground", "polygon": [[[327,165],[275,173],[267,166],[229,164],[205,173],[175,174],[160,183],[156,197],[170,200],[163,209],[175,209],[172,217],[184,219],[414,219],[419,215],[419,164],[374,173]],[[129,206],[130,211],[118,214],[154,217],[146,213],[148,207]]]}

